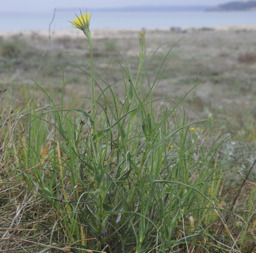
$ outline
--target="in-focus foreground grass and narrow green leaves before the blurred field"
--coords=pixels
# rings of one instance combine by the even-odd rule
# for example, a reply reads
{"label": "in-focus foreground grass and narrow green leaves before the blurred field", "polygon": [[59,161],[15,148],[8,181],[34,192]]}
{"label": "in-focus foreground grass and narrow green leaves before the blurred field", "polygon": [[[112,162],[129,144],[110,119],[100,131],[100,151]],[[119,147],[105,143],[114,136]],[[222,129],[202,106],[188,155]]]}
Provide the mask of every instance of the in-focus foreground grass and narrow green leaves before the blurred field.
{"label": "in-focus foreground grass and narrow green leaves before the blurred field", "polygon": [[255,251],[252,149],[215,119],[226,108],[187,114],[193,92],[214,78],[181,98],[155,98],[167,79],[167,46],[137,75],[139,55],[128,62],[103,43],[118,60],[94,74],[95,117],[90,96],[81,107],[65,99],[65,69],[90,83],[86,63],[63,64],[57,96],[27,75],[34,91],[26,110],[1,100],[0,252]]}

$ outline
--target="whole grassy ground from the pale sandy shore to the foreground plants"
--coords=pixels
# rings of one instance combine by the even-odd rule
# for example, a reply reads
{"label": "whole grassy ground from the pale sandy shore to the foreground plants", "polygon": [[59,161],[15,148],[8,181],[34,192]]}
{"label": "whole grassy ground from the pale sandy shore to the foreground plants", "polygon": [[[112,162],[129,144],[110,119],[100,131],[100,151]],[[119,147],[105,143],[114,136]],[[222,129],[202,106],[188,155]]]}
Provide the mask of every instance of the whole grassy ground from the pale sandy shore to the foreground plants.
{"label": "whole grassy ground from the pale sandy shore to the foreground plants", "polygon": [[256,30],[75,30],[0,37],[0,252],[256,252]]}

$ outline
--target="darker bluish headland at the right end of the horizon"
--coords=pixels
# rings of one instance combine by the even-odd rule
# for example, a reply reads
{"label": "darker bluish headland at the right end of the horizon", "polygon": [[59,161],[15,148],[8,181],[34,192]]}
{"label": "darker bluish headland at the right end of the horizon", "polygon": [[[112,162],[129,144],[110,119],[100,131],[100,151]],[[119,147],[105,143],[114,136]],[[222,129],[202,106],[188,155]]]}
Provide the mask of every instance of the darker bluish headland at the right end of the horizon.
{"label": "darker bluish headland at the right end of the horizon", "polygon": [[218,5],[216,8],[207,11],[249,11],[256,10],[256,1],[236,1]]}

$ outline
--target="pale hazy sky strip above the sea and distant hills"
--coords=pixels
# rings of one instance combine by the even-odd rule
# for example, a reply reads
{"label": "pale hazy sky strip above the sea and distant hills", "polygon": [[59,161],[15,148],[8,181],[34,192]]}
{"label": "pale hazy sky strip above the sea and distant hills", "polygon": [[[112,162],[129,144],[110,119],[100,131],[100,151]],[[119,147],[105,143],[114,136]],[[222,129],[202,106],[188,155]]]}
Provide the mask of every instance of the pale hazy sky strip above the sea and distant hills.
{"label": "pale hazy sky strip above the sea and distant hills", "polygon": [[101,7],[125,7],[141,5],[219,5],[230,0],[0,0],[1,11],[52,11],[55,7],[59,8],[93,8]]}

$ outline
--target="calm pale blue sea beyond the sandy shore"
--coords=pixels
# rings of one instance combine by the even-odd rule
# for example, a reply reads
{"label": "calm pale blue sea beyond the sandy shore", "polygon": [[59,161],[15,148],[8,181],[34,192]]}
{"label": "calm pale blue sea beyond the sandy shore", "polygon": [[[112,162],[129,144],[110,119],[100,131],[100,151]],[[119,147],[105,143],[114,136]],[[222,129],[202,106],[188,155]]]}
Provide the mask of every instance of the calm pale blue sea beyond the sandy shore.
{"label": "calm pale blue sea beyond the sandy shore", "polygon": [[[79,10],[76,14],[80,14]],[[1,13],[0,31],[48,30],[53,12]],[[75,19],[74,11],[57,10],[52,30],[69,29]],[[93,11],[90,28],[170,28],[212,27],[219,25],[256,24],[255,11]]]}

